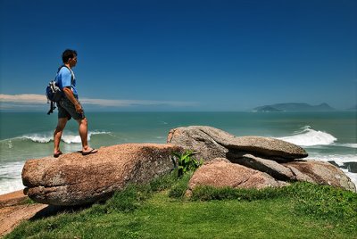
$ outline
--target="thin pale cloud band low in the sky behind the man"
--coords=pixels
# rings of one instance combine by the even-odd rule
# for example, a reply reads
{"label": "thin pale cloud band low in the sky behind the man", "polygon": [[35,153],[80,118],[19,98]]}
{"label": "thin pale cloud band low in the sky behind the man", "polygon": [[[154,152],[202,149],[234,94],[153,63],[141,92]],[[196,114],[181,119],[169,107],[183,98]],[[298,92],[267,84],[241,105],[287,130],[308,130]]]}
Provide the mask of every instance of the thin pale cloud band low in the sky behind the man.
{"label": "thin pale cloud band low in the sky behind the man", "polygon": [[[150,100],[109,100],[109,99],[91,99],[81,98],[80,102],[83,104],[92,104],[97,106],[110,107],[130,107],[130,106],[173,106],[173,107],[192,107],[197,106],[195,102],[179,102],[179,101],[150,101]],[[7,108],[9,103],[21,104],[42,104],[46,103],[45,95],[23,94],[23,95],[4,95],[0,94],[0,103],[6,103]],[[1,107],[0,107],[1,108]]]}

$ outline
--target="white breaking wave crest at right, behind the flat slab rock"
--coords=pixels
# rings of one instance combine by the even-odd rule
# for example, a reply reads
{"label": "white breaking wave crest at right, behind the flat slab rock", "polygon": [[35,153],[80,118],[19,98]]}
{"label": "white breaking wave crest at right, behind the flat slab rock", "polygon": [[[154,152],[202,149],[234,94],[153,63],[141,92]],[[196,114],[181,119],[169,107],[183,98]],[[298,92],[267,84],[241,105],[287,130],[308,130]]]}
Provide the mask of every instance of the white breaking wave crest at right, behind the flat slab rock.
{"label": "white breaking wave crest at right, behind the flat slab rock", "polygon": [[310,126],[301,128],[293,136],[279,137],[278,139],[300,146],[328,145],[337,140],[335,136],[320,130],[314,130]]}

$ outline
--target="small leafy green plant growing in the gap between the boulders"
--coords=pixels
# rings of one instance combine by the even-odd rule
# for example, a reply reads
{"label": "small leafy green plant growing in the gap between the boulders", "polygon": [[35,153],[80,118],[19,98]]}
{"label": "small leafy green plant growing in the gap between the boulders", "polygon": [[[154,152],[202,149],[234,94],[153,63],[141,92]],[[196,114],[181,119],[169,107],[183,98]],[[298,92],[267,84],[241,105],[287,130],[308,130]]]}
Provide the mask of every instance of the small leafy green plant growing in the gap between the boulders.
{"label": "small leafy green plant growing in the gap between the boulders", "polygon": [[187,150],[186,152],[179,153],[173,152],[173,155],[178,159],[178,176],[182,177],[189,171],[195,171],[203,164],[203,160],[197,161],[194,157],[195,152]]}

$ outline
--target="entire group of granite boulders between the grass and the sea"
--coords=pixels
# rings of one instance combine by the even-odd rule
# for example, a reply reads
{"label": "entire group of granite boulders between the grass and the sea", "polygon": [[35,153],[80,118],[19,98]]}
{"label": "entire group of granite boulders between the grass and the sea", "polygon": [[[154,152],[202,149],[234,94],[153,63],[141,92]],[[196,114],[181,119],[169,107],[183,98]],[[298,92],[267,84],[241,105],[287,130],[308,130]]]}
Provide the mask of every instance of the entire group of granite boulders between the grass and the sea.
{"label": "entire group of granite boulders between the grass and the sea", "polygon": [[[130,183],[145,183],[170,172],[175,166],[172,152],[185,149],[194,150],[198,153],[195,157],[205,161],[192,177],[190,188],[263,188],[308,181],[356,190],[341,169],[328,162],[303,161],[307,153],[301,147],[278,139],[237,137],[217,128],[187,127],[170,130],[168,143],[119,144],[87,156],[73,152],[57,159],[26,161],[22,170],[25,192],[36,202],[52,205],[104,200]],[[215,158],[220,160],[212,161]]]}

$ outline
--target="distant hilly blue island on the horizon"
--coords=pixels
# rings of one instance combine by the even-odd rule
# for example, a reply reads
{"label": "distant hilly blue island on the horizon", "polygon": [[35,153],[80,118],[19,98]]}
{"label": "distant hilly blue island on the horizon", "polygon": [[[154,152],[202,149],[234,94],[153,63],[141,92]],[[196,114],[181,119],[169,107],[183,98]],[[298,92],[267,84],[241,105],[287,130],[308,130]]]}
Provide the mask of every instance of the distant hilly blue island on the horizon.
{"label": "distant hilly blue island on the horizon", "polygon": [[276,103],[255,107],[253,111],[258,112],[278,112],[278,111],[336,111],[328,105],[321,103],[319,105],[311,105],[308,103]]}

